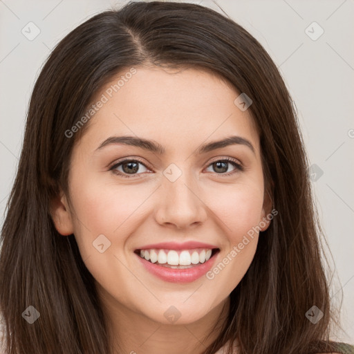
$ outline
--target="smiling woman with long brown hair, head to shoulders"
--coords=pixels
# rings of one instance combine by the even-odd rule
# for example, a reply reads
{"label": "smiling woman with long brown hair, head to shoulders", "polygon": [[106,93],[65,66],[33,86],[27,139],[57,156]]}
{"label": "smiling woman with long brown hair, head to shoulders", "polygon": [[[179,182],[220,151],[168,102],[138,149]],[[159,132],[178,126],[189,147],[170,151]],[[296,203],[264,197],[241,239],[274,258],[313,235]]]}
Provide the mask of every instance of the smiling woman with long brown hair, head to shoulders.
{"label": "smiling woman with long brown hair, head to shoulders", "polygon": [[254,37],[186,3],[102,12],[30,100],[5,352],[346,353],[313,209],[292,101]]}

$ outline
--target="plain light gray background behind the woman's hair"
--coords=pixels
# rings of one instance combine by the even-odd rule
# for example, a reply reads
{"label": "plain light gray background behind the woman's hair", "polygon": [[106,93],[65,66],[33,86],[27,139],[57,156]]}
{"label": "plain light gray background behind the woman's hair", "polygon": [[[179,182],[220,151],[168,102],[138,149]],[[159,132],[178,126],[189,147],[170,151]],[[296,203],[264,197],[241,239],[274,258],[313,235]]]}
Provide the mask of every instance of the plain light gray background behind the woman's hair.
{"label": "plain light gray background behind the woman's hair", "polygon": [[[336,333],[333,339],[354,343],[354,1],[216,1],[261,42],[295,100],[311,164],[323,171],[322,176],[313,176],[313,187],[333,255],[333,301],[340,303],[343,294],[346,333]],[[88,17],[126,2],[0,0],[1,225],[17,169],[28,100],[44,59],[57,41]],[[221,12],[207,0],[189,2]],[[32,41],[21,33],[22,28],[29,32],[30,21],[40,30]],[[305,31],[313,21],[324,30],[315,41]],[[308,28],[312,36],[319,30]]]}

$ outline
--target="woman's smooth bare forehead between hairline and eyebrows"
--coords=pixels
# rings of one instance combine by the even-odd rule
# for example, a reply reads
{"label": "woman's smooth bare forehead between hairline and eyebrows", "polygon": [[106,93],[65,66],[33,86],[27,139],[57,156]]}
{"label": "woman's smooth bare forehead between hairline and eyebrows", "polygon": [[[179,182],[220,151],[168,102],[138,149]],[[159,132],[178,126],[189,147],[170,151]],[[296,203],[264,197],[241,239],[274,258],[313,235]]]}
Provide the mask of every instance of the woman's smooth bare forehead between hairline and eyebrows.
{"label": "woman's smooth bare forehead between hairline and eyebrows", "polygon": [[196,68],[136,67],[127,75],[130,69],[112,77],[95,95],[93,104],[104,104],[88,122],[88,140],[115,133],[182,147],[235,133],[259,148],[252,116],[234,104],[239,93],[227,80]]}

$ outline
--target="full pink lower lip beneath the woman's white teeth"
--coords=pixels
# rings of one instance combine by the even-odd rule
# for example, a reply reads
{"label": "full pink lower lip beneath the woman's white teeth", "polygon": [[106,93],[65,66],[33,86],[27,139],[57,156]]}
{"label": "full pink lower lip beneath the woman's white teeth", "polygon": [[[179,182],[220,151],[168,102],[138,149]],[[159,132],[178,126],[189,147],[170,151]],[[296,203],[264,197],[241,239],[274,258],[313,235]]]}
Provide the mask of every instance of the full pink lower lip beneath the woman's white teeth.
{"label": "full pink lower lip beneath the woman's white teeth", "polygon": [[192,268],[186,269],[162,267],[161,265],[156,265],[156,263],[147,261],[138,254],[136,254],[136,257],[140,259],[142,265],[144,265],[144,267],[149,270],[151,274],[162,279],[163,281],[169,281],[171,283],[191,283],[192,281],[196,281],[196,279],[203,277],[203,275],[207,273],[210,268],[212,268],[216,254],[214,254],[214,256],[208,259],[205,263],[200,263]]}

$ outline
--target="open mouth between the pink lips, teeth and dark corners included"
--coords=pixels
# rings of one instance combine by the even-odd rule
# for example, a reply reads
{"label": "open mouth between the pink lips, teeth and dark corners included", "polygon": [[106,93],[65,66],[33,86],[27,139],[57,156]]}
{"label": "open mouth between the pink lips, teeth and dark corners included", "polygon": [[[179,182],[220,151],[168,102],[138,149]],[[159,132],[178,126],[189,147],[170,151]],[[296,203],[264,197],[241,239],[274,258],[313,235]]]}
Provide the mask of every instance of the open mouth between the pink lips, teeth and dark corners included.
{"label": "open mouth between the pink lips, teeth and dark corners included", "polygon": [[187,269],[194,268],[209,261],[219,248],[194,248],[191,250],[149,249],[135,250],[134,253],[149,263],[155,263],[165,268]]}

